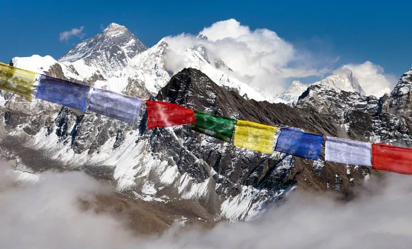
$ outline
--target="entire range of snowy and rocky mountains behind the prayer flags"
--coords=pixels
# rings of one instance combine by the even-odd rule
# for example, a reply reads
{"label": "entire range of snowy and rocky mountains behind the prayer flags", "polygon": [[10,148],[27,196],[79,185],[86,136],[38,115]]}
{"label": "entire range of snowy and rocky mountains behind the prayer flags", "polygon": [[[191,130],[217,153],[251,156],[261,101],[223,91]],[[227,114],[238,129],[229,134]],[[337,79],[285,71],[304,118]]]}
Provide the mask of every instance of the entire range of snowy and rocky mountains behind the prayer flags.
{"label": "entire range of snowy and rocky mountains behind the prayer flags", "polygon": [[[75,48],[78,52],[71,50],[70,56],[62,57],[65,60],[32,56],[13,61],[36,72],[230,118],[357,140],[412,142],[411,120],[396,111],[406,110],[411,70],[402,76],[391,96],[380,99],[360,96],[356,77],[347,70],[310,87],[295,82],[284,94],[288,100],[300,96],[297,107],[292,108],[248,100],[265,98],[233,78],[225,62],[209,58],[201,45],[180,53],[182,64],[174,68],[168,65],[168,56],[176,55],[176,50],[168,39],[148,50],[132,49],[134,56],[128,55],[125,45],[120,46],[123,52],[111,54],[111,45],[102,44],[121,38],[119,30],[126,32],[122,26],[109,26],[98,34],[99,39],[89,39],[93,45],[80,43],[83,45]],[[120,39],[119,44],[128,41]],[[117,47],[115,51],[120,50]],[[109,60],[108,65],[102,68],[96,58]],[[91,72],[88,67],[93,67]],[[361,184],[370,172],[367,167],[323,162],[323,158],[312,162],[283,153],[267,155],[233,147],[188,126],[149,130],[144,111],[136,125],[126,125],[41,100],[27,102],[3,91],[0,96],[0,152],[16,160],[17,170],[84,171],[112,182],[125,198],[156,202],[153,206],[159,210],[185,213],[189,219],[201,217],[206,223],[254,219],[295,188],[336,191],[350,199],[352,186]]]}

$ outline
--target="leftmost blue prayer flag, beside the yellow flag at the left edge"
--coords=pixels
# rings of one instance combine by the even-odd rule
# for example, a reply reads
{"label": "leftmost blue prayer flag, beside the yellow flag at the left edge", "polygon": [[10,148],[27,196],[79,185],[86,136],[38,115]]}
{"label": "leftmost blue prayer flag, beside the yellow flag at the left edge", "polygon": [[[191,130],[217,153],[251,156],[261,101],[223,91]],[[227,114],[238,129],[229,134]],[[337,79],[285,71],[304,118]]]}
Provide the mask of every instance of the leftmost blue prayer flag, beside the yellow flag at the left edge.
{"label": "leftmost blue prayer flag, beside the yellow flag at the left edge", "polygon": [[40,77],[36,98],[86,112],[90,87],[47,75]]}

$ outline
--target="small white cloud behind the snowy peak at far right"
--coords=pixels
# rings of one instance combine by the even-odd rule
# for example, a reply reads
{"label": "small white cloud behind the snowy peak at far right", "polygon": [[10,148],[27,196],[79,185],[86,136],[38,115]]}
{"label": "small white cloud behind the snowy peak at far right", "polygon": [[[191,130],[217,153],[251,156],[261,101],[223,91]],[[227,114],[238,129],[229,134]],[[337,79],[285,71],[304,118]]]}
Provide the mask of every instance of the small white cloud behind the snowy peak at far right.
{"label": "small white cloud behind the snowy peak at far right", "polygon": [[360,65],[348,64],[345,66],[354,72],[367,95],[380,97],[385,93],[389,93],[398,81],[396,76],[385,74],[383,67],[370,61]]}

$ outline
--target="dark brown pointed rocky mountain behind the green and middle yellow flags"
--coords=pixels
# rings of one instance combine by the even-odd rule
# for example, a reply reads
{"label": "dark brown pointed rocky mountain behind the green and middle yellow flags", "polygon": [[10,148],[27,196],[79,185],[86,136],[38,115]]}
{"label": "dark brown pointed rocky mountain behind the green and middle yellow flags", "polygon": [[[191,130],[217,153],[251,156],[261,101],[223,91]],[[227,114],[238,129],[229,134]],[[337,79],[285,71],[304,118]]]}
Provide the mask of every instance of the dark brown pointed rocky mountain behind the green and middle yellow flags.
{"label": "dark brown pointed rocky mountain behind the green and middle yellow flags", "polygon": [[[186,105],[201,111],[207,110],[220,116],[251,120],[266,125],[299,127],[309,132],[323,133],[330,136],[339,136],[341,133],[345,133],[345,130],[338,125],[333,116],[323,115],[311,108],[293,109],[283,104],[245,100],[236,92],[225,91],[218,87],[196,69],[184,69],[172,77],[170,83],[161,89],[157,99]],[[223,149],[220,146],[199,147],[202,140],[210,140],[214,144],[222,144],[222,142],[214,138],[204,137],[185,128],[180,132],[183,133],[184,137],[186,137],[185,132],[190,135],[183,146],[190,148],[191,153],[194,153],[197,158],[201,159],[202,162],[206,162],[218,173],[217,183],[220,188],[217,188],[216,192],[220,196],[223,195],[223,197],[237,195],[240,193],[241,186],[250,185],[255,188],[266,189],[268,191],[266,198],[271,199],[271,197],[276,196],[275,192],[295,186],[297,182],[301,181],[299,174],[302,171],[307,171],[305,175],[310,175],[314,169],[313,162],[310,160],[300,158],[296,160],[296,158],[277,153],[269,156],[235,148],[231,144],[227,144]],[[164,142],[166,141],[167,139]],[[183,158],[185,157],[183,156]],[[289,161],[290,164],[295,164],[295,168],[282,169],[285,160]],[[328,166],[333,165],[327,164]],[[190,166],[190,169],[187,166]],[[201,177],[201,179],[204,179],[203,176],[206,176],[207,173],[201,165],[196,166],[196,163],[180,164],[180,167],[181,171],[189,172],[194,178]],[[344,168],[341,165],[332,166],[332,170],[328,171],[329,173],[318,174],[319,177],[315,178],[313,182],[309,180],[307,182],[301,181],[301,184],[304,184],[307,188],[310,188],[308,184],[312,184],[320,190],[326,189],[329,182],[330,187],[333,188],[336,184],[334,181],[336,175],[334,168],[337,167]],[[340,184],[350,186],[351,177],[347,177],[344,170],[341,171]],[[364,171],[369,172],[367,169],[362,169],[356,171],[353,175],[361,178]],[[310,178],[313,179],[313,177]],[[349,193],[350,188],[342,187],[339,191]],[[273,198],[271,200],[273,201]]]}

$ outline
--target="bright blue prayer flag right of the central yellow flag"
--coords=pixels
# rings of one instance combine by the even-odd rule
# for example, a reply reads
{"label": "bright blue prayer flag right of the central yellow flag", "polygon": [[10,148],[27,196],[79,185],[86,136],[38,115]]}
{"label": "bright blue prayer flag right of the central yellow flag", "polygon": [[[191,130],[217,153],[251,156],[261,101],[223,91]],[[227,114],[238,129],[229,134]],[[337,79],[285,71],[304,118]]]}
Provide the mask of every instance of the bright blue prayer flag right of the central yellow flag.
{"label": "bright blue prayer flag right of the central yellow flag", "polygon": [[275,151],[318,160],[322,143],[323,136],[321,135],[305,133],[293,128],[282,128],[277,138]]}

